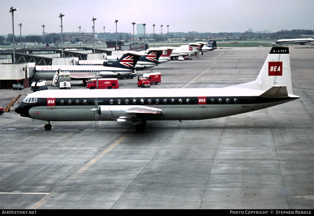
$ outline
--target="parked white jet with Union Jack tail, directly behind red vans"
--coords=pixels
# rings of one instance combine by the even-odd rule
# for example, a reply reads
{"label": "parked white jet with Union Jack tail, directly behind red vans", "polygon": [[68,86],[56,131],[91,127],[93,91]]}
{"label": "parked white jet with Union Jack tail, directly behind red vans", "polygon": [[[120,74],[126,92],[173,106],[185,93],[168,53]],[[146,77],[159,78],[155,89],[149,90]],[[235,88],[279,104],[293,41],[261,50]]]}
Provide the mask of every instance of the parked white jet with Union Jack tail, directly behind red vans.
{"label": "parked white jet with Union Jack tail, directly behind red vans", "polygon": [[121,79],[130,77],[131,74],[133,74],[133,78],[136,76],[135,65],[138,59],[146,55],[134,51],[125,51],[119,60],[111,62],[106,67],[99,65],[36,65],[34,69],[35,79],[52,80],[59,69],[61,72],[70,72],[71,80],[83,80],[83,82],[90,78],[117,77]]}

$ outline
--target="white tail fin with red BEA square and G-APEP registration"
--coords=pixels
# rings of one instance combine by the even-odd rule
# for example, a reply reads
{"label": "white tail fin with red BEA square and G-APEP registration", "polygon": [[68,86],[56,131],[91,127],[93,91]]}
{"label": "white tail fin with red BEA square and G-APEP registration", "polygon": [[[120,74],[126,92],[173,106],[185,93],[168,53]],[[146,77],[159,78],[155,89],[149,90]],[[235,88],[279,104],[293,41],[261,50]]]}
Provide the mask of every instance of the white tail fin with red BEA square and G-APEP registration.
{"label": "white tail fin with red BEA square and G-APEP registration", "polygon": [[263,91],[273,86],[286,86],[288,95],[293,95],[289,48],[272,47],[257,79],[236,86]]}

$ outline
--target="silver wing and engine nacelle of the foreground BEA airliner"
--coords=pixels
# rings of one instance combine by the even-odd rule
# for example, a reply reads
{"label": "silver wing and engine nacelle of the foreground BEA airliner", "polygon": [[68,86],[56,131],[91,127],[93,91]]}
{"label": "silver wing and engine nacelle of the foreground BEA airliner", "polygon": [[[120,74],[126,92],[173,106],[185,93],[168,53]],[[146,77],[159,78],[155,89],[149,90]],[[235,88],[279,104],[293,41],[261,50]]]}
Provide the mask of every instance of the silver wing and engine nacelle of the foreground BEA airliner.
{"label": "silver wing and engine nacelle of the foreground BEA airliner", "polygon": [[91,111],[112,120],[123,119],[133,122],[162,115],[161,109],[141,105],[100,105]]}

